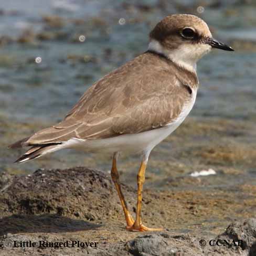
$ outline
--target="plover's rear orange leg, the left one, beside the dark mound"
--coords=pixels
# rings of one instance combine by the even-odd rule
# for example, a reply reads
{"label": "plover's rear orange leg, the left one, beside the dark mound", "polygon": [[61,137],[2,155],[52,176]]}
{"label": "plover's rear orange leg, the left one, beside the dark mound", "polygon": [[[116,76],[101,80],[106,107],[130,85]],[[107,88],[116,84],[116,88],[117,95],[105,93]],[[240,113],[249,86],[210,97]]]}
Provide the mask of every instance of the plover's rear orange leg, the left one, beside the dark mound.
{"label": "plover's rear orange leg, the left one, beside the dark mound", "polygon": [[130,214],[130,212],[128,210],[127,204],[124,200],[124,196],[123,196],[123,193],[122,193],[122,190],[121,190],[118,168],[116,168],[116,159],[117,159],[117,157],[118,157],[118,153],[114,153],[113,161],[112,161],[112,168],[111,168],[111,177],[112,177],[113,183],[115,185],[115,188],[118,191],[118,196],[120,198],[121,205],[123,207],[124,217],[125,217],[125,220],[126,220],[126,223],[127,223],[126,228],[129,228],[133,225],[134,220],[133,220],[133,217],[132,217],[132,215]]}

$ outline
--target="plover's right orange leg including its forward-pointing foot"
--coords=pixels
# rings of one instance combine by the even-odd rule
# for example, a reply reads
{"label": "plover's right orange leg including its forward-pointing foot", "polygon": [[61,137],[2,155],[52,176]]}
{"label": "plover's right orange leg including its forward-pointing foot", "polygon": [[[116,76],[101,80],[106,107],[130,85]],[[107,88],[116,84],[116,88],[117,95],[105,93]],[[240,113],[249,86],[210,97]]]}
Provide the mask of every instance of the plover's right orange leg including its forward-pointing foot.
{"label": "plover's right orange leg including its forward-pointing foot", "polygon": [[140,169],[137,174],[137,209],[136,209],[136,219],[132,227],[126,227],[126,229],[131,231],[161,231],[162,228],[147,228],[142,224],[141,220],[141,205],[142,205],[142,189],[143,183],[145,182],[145,170],[147,166],[147,157],[141,162]]}

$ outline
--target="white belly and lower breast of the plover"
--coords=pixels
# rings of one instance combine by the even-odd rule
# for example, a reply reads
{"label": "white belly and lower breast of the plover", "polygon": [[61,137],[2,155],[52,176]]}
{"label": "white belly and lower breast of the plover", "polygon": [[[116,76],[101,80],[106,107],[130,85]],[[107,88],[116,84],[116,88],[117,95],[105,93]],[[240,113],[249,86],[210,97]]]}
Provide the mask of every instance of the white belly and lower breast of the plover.
{"label": "white belly and lower breast of the plover", "polygon": [[71,138],[63,147],[76,148],[85,151],[106,151],[106,152],[125,152],[138,153],[151,151],[159,142],[163,141],[169,134],[177,129],[184,121],[188,113],[193,108],[196,100],[197,91],[194,90],[190,102],[187,102],[182,113],[172,123],[147,132],[137,134],[124,134],[112,138],[97,140],[81,140]]}

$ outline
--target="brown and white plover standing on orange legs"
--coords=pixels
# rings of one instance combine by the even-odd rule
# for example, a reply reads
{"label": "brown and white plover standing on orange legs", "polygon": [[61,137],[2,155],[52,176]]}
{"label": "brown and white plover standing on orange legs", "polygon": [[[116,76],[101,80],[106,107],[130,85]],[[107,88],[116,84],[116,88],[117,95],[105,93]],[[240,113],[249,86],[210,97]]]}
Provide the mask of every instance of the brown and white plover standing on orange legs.
{"label": "brown and white plover standing on orange legs", "polygon": [[[29,147],[16,162],[63,148],[111,153],[111,178],[126,229],[162,230],[148,228],[142,221],[148,157],[193,108],[199,87],[197,61],[212,48],[233,51],[212,37],[201,18],[190,14],[166,16],[150,32],[147,50],[93,83],[61,122],[10,145]],[[141,156],[135,220],[121,189],[117,168],[120,153]]]}

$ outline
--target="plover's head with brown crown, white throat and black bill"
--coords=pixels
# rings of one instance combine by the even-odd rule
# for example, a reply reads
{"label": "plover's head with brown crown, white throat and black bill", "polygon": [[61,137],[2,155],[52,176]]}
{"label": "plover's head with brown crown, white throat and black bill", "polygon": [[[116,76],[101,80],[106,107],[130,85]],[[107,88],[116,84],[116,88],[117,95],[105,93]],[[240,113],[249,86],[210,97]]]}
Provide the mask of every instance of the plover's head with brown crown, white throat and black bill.
{"label": "plover's head with brown crown, white throat and black bill", "polygon": [[190,71],[211,48],[233,49],[214,39],[204,20],[194,15],[175,14],[165,17],[150,33],[148,50],[158,52]]}

